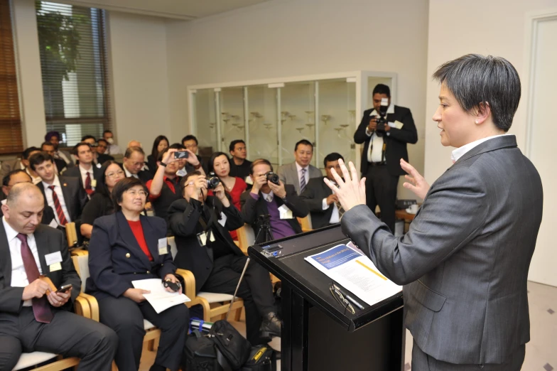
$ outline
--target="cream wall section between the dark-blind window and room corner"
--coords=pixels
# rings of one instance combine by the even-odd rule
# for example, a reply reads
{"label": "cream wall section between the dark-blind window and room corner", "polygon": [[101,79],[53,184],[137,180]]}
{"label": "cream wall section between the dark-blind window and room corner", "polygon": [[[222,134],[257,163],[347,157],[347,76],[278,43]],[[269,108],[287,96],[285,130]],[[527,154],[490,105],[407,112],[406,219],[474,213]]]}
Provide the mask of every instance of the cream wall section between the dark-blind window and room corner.
{"label": "cream wall section between the dark-blind window and room corner", "polygon": [[108,16],[115,136],[121,149],[135,139],[150,152],[156,136],[171,134],[165,20],[115,11]]}

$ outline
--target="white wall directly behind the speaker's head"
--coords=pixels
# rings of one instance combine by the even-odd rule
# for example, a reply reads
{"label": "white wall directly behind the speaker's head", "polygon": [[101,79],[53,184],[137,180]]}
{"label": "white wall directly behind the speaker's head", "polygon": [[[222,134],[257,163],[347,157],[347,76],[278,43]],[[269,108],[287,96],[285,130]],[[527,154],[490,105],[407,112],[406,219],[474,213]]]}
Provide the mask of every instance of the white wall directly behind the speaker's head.
{"label": "white wall directly behind the speaker's head", "polygon": [[425,176],[435,181],[450,165],[451,148],[440,144],[439,129],[431,117],[437,109],[439,86],[431,75],[442,63],[467,53],[497,55],[514,65],[521,77],[522,97],[509,131],[526,144],[525,21],[529,11],[555,6],[553,0],[429,1],[426,100]]}

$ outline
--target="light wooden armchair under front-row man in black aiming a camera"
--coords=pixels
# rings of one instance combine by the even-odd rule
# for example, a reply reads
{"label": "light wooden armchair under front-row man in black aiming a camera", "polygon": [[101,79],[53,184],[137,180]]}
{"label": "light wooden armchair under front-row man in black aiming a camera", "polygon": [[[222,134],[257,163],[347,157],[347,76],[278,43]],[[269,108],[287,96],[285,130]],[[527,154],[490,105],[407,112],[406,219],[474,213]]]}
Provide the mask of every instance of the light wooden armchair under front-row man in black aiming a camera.
{"label": "light wooden armchair under front-row man in black aiming a camera", "polygon": [[[178,253],[176,242],[174,237],[168,237],[167,240],[168,244],[171,246],[171,254],[174,258]],[[193,276],[193,273],[185,269],[177,269],[176,274],[179,274],[184,279],[185,296],[192,299],[192,301],[188,301],[188,303],[186,303],[188,308],[197,304],[200,304],[203,307],[203,321],[210,322],[214,318],[224,318],[231,305],[231,311],[235,311],[234,320],[239,321],[240,316],[242,316],[242,308],[244,308],[244,301],[242,299],[236,298],[234,303],[231,304],[230,301],[232,301],[232,295],[230,294],[218,294],[201,291],[195,295],[195,276]]]}

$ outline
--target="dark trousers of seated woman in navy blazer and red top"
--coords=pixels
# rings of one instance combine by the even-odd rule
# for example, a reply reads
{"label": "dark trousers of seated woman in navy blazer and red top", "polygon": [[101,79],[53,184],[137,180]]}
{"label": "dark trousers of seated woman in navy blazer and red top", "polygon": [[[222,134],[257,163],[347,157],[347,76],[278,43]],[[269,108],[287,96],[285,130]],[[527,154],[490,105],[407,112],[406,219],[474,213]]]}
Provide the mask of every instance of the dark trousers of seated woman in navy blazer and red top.
{"label": "dark trousers of seated woman in navy blazer and red top", "polygon": [[99,299],[99,320],[118,335],[118,350],[114,357],[118,370],[139,370],[145,335],[144,318],[161,329],[155,363],[178,370],[190,323],[188,307],[179,304],[156,313],[147,301],[136,303],[124,296],[107,296]]}

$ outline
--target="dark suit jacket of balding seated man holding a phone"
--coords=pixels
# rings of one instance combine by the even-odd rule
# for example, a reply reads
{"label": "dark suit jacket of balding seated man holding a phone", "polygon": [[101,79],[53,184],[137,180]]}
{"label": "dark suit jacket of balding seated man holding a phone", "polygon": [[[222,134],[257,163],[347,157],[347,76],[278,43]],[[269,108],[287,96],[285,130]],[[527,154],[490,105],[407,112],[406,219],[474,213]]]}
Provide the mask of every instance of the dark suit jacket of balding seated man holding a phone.
{"label": "dark suit jacket of balding seated man holding a phone", "polygon": [[[67,311],[72,311],[73,301],[81,291],[81,280],[75,271],[70,253],[67,252],[67,243],[63,232],[45,225],[37,225],[33,235],[37,243],[40,269],[42,269],[43,274],[48,276],[54,286],[58,288],[67,284],[72,285],[71,299],[61,307]],[[62,254],[62,269],[50,272],[48,265],[46,265],[45,255],[53,252]],[[11,269],[8,238],[6,237],[4,223],[0,222],[0,318],[2,318],[4,312],[19,313],[23,306],[21,296],[24,288],[11,286]]]}

